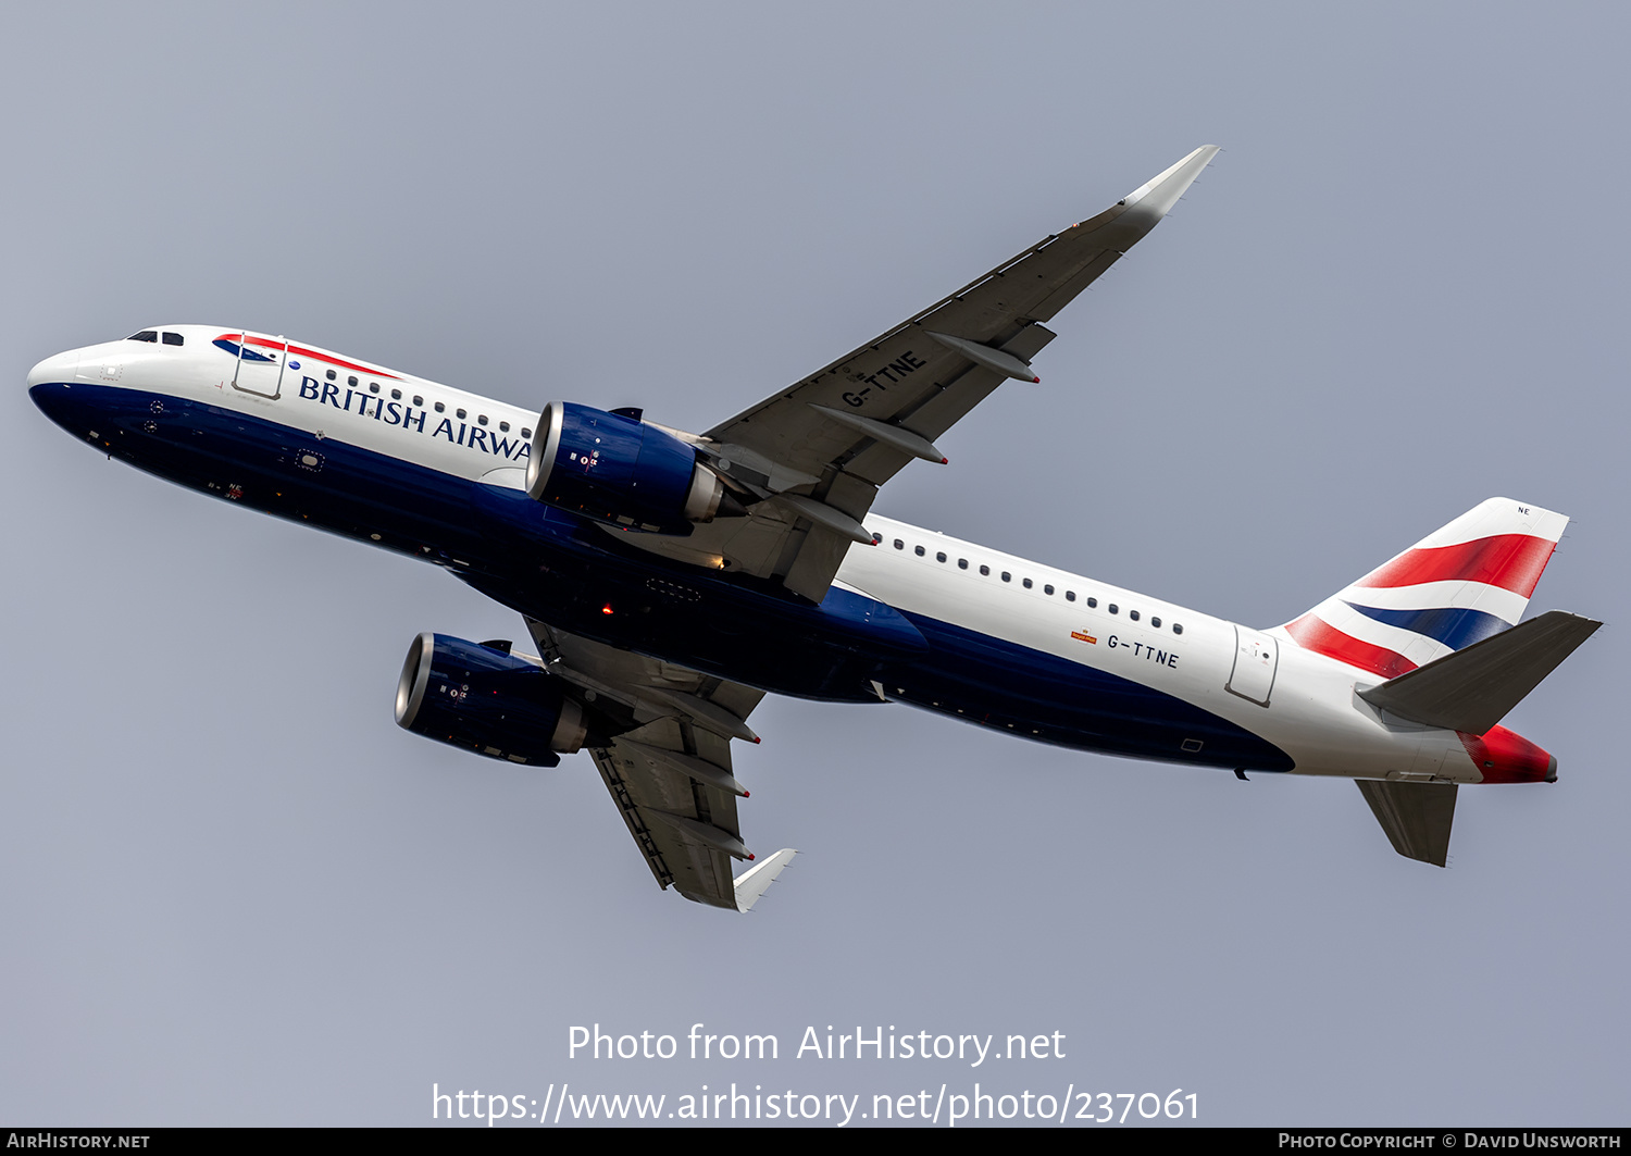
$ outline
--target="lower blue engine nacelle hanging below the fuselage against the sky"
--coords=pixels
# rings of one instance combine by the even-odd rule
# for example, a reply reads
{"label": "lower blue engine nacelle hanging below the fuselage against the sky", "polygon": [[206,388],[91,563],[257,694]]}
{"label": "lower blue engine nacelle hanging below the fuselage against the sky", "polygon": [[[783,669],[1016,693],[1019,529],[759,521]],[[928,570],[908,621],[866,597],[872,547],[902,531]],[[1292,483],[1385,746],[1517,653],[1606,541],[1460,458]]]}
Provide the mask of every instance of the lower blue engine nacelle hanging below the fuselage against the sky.
{"label": "lower blue engine nacelle hanging below the fuselage against the sky", "polygon": [[530,662],[447,634],[421,634],[396,682],[396,722],[511,763],[555,766],[586,735],[566,686]]}

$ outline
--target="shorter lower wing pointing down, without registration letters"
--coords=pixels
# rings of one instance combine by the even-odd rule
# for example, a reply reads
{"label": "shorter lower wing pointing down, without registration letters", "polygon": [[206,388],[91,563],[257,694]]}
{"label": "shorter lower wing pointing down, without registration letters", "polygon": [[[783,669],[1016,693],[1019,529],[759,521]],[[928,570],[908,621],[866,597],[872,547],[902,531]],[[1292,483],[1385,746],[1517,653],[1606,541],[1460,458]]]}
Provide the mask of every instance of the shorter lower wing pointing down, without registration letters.
{"label": "shorter lower wing pointing down, without registration letters", "polygon": [[709,907],[752,907],[793,858],[778,851],[740,880],[731,876],[732,859],[754,858],[736,815],[747,791],[731,773],[731,739],[758,742],[747,716],[765,693],[533,618],[527,629],[546,672],[574,683],[592,706],[615,703],[633,721],[589,753],[657,884]]}

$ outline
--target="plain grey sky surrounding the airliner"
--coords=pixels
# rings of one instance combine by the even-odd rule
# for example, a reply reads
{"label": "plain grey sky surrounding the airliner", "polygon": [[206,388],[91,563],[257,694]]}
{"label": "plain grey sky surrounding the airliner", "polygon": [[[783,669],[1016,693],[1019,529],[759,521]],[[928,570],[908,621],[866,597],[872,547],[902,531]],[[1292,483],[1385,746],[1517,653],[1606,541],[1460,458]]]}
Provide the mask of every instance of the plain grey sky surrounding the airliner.
{"label": "plain grey sky surrounding the airliner", "polygon": [[[1624,1123],[1616,613],[1628,20],[1608,5],[18,7],[0,355],[0,1120],[421,1123],[442,1089],[1199,1094],[1204,1123]],[[38,359],[219,323],[701,429],[1191,148],[1225,152],[881,514],[1285,621],[1478,501],[1574,517],[1607,618],[1461,792],[1452,867],[1346,783],[767,699],[747,918],[661,893],[587,757],[391,724],[440,571],[109,463]],[[775,1032],[566,1058],[571,1024]],[[820,1063],[806,1026],[1065,1034]]]}

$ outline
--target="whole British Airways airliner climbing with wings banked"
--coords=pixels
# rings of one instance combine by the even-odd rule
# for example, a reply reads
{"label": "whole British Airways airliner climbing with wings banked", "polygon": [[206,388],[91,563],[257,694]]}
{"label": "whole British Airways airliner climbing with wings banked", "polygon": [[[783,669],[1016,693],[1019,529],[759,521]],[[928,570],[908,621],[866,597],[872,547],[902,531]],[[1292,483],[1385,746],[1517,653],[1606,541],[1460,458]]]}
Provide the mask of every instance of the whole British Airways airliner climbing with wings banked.
{"label": "whole British Airways airliner climbing with wings banked", "polygon": [[[747,911],[732,742],[767,695],[907,703],[1076,750],[1349,778],[1445,866],[1456,791],[1556,781],[1501,719],[1600,623],[1520,621],[1567,518],[1492,497],[1258,629],[873,514],[1148,235],[1207,145],[1090,220],[705,434],[455,390],[285,336],[160,324],[34,365],[51,421],[220,501],[442,566],[511,641],[422,633],[408,730],[494,760],[587,750],[657,884]],[[732,863],[754,863],[732,877]]]}

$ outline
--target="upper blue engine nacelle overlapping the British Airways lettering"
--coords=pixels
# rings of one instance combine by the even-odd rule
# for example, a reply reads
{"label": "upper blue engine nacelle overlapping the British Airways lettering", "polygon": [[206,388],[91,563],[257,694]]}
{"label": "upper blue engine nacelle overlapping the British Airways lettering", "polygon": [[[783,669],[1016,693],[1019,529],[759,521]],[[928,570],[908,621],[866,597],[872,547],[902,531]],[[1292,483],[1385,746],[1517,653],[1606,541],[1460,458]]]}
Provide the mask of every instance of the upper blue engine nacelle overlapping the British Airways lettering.
{"label": "upper blue engine nacelle overlapping the British Airways lettering", "polygon": [[726,489],[672,434],[626,414],[551,401],[532,440],[527,494],[626,530],[688,535],[693,523],[713,522]]}

